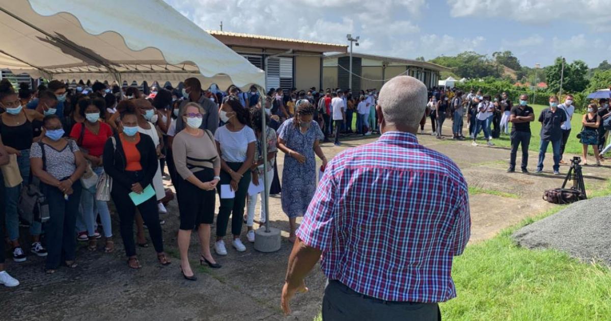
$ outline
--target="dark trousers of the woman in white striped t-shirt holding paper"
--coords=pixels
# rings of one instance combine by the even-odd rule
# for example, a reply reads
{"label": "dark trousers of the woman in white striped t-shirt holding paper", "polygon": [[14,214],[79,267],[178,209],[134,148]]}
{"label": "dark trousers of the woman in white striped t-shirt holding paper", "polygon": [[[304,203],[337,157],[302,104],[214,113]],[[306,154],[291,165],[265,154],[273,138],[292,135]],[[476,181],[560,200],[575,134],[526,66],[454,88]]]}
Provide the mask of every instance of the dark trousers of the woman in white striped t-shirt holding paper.
{"label": "dark trousers of the woman in white striped t-shirt holding paper", "polygon": [[[227,163],[233,171],[238,171],[243,163]],[[221,195],[221,185],[229,185],[231,175],[221,170],[221,182],[217,185],[219,195]],[[227,225],[229,224],[229,215],[231,218],[231,233],[240,235],[242,233],[242,221],[244,220],[244,206],[246,206],[246,195],[248,194],[248,185],[251,184],[251,171],[246,171],[244,176],[238,183],[238,190],[235,191],[235,197],[231,199],[221,198],[221,207],[219,215],[216,217],[216,236],[224,237],[227,234]]]}

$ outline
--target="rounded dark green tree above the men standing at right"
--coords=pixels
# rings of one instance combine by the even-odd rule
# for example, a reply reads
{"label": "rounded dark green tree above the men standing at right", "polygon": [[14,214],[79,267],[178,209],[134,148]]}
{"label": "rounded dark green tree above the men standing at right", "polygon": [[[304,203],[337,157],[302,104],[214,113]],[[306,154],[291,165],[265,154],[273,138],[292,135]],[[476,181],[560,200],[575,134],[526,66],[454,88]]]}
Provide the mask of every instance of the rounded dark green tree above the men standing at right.
{"label": "rounded dark green tree above the men standing at right", "polygon": [[[562,75],[562,58],[556,58],[554,65],[546,67],[547,86],[552,92],[560,91],[560,77]],[[565,62],[563,92],[582,92],[588,86],[586,79],[588,65],[576,60],[571,64]]]}

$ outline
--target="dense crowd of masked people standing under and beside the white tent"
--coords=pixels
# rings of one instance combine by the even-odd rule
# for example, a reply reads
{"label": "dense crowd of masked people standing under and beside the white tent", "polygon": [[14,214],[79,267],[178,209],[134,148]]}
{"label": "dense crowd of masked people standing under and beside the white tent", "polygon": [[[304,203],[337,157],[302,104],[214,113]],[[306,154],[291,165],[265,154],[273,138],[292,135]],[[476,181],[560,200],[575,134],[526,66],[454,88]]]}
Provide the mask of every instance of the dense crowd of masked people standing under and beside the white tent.
{"label": "dense crowd of masked people standing under and beside the white tent", "polygon": [[[375,90],[353,97],[338,89],[277,88],[266,95],[254,86],[248,92],[235,86],[203,89],[197,78],[186,79],[180,89],[153,87],[147,94],[137,87],[100,82],[75,87],[57,80],[15,89],[3,80],[0,284],[19,284],[5,270],[5,246],[15,262],[45,257],[48,274],[78,266],[78,242],[86,242],[89,251],[113,253],[112,212],[128,267],[142,267],[137,248],[149,246],[146,230],[159,264],[169,265],[162,230],[172,197],[163,185],[166,170],[178,201],[180,269],[186,279],[197,279],[188,260],[192,231],[200,240],[200,263],[211,268],[221,268],[211,248],[227,255],[230,217],[232,248],[246,250],[244,222],[246,239],[254,242],[254,223],[266,221],[266,200],[260,192],[249,194],[249,187],[265,179],[271,194],[285,191],[282,209],[295,242],[296,218],[304,215],[316,188],[315,157],[327,163],[320,143],[334,138],[338,145],[342,136],[376,132],[376,99]],[[358,125],[352,128],[355,114]],[[279,150],[286,155],[282,183]],[[48,208],[48,218],[24,211],[21,194],[32,188],[44,196],[33,202]],[[221,205],[211,246],[216,197]],[[255,218],[258,199],[262,206]],[[20,226],[29,226],[27,238],[20,237]],[[28,238],[29,248],[20,244]]]}

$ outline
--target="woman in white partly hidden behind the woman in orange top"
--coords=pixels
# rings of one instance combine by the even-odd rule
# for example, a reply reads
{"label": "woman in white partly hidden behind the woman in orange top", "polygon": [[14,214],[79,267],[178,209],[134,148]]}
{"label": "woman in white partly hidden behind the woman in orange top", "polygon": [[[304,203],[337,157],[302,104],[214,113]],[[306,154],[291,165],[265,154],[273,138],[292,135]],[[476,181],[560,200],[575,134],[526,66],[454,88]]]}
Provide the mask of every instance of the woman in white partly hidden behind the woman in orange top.
{"label": "woman in white partly hidden behind the woman in orange top", "polygon": [[[156,116],[155,108],[153,108],[153,105],[151,105],[151,103],[144,98],[134,100],[134,105],[136,105],[137,111],[139,111],[138,132],[153,139],[157,150],[158,159],[164,158],[163,153],[161,153],[161,150],[163,149],[163,145],[161,144],[162,141],[160,139],[161,135],[152,122],[153,117]],[[161,199],[166,197],[166,191],[163,188],[163,177],[161,176],[161,165],[157,166],[157,172],[155,173],[155,177],[153,177],[153,188],[155,188],[157,201],[159,201],[157,204],[159,213],[167,214],[167,209],[161,202]]]}

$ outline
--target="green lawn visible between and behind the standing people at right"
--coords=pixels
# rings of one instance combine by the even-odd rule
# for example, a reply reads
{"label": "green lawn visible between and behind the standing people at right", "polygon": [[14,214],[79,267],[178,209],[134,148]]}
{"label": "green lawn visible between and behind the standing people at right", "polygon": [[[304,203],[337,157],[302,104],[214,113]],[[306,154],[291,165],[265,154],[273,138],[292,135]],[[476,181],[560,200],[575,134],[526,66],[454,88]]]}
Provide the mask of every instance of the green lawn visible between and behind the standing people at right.
{"label": "green lawn visible between and behind the standing people at right", "polygon": [[[530,131],[532,132],[532,137],[530,138],[530,146],[529,146],[529,150],[534,150],[535,152],[539,151],[539,145],[541,142],[541,123],[538,122],[539,119],[539,115],[541,114],[541,111],[545,108],[547,108],[548,106],[544,106],[544,105],[530,105],[533,109],[535,109],[535,121],[530,123]],[[577,139],[577,134],[581,131],[582,128],[582,117],[584,117],[584,114],[578,114],[577,112],[573,115],[573,121],[571,121],[571,127],[573,128],[573,130],[571,130],[571,137],[569,138],[568,142],[566,142],[566,148],[565,148],[565,152],[566,153],[576,153],[581,155],[582,153],[582,144],[579,142],[579,139]],[[465,125],[467,123],[465,122]],[[467,127],[468,130],[468,127]],[[480,133],[480,138],[483,140],[483,134]],[[511,147],[511,139],[508,135],[505,134],[501,134],[500,138],[495,138],[493,139],[494,144],[496,144],[496,146],[500,146],[500,147]],[[549,146],[547,147],[547,151],[548,152],[552,152],[552,147]],[[518,151],[519,152],[519,151]],[[594,155],[593,154],[593,150],[590,148],[590,155]]]}

